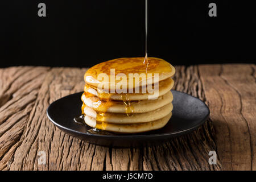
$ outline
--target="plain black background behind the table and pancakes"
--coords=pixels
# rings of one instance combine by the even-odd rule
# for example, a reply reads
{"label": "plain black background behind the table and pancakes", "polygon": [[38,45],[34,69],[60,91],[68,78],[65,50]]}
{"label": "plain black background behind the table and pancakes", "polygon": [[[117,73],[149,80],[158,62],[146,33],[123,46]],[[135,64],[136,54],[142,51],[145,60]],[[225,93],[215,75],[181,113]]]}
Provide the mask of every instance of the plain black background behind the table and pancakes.
{"label": "plain black background behind the table and pancakes", "polygon": [[[38,16],[38,3],[47,16]],[[208,16],[210,2],[217,17]],[[148,56],[170,63],[254,63],[255,1],[148,0]],[[144,56],[144,0],[1,1],[0,67],[90,67]]]}

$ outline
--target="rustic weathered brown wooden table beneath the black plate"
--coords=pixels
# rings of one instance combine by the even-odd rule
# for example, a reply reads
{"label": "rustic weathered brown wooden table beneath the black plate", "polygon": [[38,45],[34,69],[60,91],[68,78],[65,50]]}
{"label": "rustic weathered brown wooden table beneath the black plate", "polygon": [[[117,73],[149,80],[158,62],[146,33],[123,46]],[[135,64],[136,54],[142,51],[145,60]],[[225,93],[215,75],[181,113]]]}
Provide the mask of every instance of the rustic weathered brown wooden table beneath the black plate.
{"label": "rustic weathered brown wooden table beneath the black plate", "polygon": [[[108,148],[57,129],[48,105],[80,92],[86,69],[0,69],[1,170],[256,170],[255,65],[176,67],[175,90],[205,101],[208,121],[154,147]],[[38,163],[42,152],[46,164]],[[217,164],[208,163],[209,151]]]}

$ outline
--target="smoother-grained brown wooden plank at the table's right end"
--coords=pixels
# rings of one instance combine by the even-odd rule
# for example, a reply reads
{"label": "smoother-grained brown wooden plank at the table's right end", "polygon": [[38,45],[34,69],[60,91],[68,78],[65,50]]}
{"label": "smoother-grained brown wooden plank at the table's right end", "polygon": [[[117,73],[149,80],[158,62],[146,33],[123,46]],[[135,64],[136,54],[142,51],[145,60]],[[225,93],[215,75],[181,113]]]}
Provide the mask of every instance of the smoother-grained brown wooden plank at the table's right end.
{"label": "smoother-grained brown wooden plank at the table's right end", "polygon": [[199,71],[222,167],[256,170],[255,65],[201,65]]}

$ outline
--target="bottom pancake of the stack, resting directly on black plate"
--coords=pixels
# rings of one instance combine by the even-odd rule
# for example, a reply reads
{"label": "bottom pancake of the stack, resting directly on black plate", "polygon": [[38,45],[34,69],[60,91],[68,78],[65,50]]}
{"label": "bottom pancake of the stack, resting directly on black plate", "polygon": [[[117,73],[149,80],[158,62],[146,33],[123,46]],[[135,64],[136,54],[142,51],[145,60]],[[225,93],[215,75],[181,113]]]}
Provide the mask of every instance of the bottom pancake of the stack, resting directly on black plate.
{"label": "bottom pancake of the stack, resting directly on black plate", "polygon": [[91,118],[88,115],[84,117],[84,121],[90,127],[99,130],[112,131],[115,133],[142,133],[145,131],[157,130],[164,127],[171,118],[171,115],[172,113],[170,112],[165,117],[157,119],[156,121],[146,123],[135,123],[130,125],[119,125],[113,123],[98,122],[96,121],[96,119]]}

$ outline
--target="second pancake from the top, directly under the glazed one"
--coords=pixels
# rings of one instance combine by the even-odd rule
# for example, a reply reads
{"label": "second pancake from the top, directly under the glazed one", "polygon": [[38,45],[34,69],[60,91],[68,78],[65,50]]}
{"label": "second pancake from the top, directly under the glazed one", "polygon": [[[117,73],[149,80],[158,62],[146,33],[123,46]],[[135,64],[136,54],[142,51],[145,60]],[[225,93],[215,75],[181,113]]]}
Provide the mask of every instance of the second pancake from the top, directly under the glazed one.
{"label": "second pancake from the top, directly under the glazed one", "polygon": [[[169,92],[174,86],[174,80],[172,78],[167,78],[166,80],[159,82],[159,93],[158,96],[163,96]],[[94,88],[93,86],[85,85],[84,91],[90,93],[94,96],[100,98],[100,100],[116,100],[116,101],[138,101],[138,100],[148,100],[150,96],[154,94],[150,93],[102,93],[101,90]],[[125,95],[125,97],[123,97]]]}

